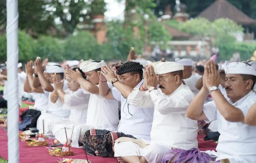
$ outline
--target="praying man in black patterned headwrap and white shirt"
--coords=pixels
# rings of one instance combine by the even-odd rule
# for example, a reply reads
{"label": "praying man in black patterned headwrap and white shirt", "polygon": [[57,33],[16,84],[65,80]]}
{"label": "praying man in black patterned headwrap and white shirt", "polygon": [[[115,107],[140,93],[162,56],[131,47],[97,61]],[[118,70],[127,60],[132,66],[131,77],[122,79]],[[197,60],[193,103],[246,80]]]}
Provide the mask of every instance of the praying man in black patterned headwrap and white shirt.
{"label": "praying man in black patterned headwrap and white shirt", "polygon": [[[135,107],[127,101],[127,97],[133,91],[133,88],[139,88],[143,84],[143,65],[129,61],[123,65],[116,65],[115,70],[118,76],[109,67],[103,66],[101,68],[99,93],[104,98],[121,102],[121,120],[116,133],[122,134],[121,137],[150,141],[153,107]],[[111,82],[114,87],[110,89],[107,81]],[[111,147],[110,151],[112,151],[112,144],[109,147]],[[101,151],[96,153],[102,156]]]}

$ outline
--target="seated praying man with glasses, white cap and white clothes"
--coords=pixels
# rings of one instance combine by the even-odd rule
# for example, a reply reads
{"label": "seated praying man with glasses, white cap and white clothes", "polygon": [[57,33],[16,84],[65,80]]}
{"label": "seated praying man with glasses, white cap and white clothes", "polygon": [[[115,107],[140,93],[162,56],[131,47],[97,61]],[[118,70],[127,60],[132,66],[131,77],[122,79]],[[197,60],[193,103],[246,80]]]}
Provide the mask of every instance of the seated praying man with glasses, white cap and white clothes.
{"label": "seated praying man with glasses, white cap and white clothes", "polygon": [[197,121],[185,116],[194,95],[182,84],[183,69],[184,66],[176,62],[157,62],[154,67],[146,67],[145,84],[128,96],[128,102],[137,107],[154,107],[151,141],[143,141],[146,146],[143,148],[142,143],[117,139],[115,156],[121,156],[128,163],[161,163],[163,155],[172,148],[198,147]]}

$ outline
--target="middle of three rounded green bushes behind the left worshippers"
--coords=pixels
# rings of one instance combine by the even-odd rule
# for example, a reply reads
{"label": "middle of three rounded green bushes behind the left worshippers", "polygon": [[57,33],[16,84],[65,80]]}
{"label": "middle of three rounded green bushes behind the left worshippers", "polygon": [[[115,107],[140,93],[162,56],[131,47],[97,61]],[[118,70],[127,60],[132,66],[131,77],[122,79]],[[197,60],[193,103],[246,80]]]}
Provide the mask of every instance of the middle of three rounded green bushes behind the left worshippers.
{"label": "middle of three rounded green bushes behind the left worshippers", "polygon": [[[59,39],[52,36],[41,36],[37,40],[36,56],[40,56],[42,59],[47,57],[51,61],[62,61],[64,60],[63,53],[64,45]],[[34,59],[36,56],[34,56]]]}

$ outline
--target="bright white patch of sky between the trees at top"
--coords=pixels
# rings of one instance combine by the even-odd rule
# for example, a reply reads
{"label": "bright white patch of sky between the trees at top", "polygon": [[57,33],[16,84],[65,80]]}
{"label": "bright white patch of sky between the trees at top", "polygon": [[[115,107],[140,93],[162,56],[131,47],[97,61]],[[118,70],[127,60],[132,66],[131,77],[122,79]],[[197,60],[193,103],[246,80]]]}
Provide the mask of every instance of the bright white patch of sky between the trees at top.
{"label": "bright white patch of sky between the trees at top", "polygon": [[124,20],[125,1],[118,3],[117,0],[105,0],[107,3],[105,12],[106,20]]}

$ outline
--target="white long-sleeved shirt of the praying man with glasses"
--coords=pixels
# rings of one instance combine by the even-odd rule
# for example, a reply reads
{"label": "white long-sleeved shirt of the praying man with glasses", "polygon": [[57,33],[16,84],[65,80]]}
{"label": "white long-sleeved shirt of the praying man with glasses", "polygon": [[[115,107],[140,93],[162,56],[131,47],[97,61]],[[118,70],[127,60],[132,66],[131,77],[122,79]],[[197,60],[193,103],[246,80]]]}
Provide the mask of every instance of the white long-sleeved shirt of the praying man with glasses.
{"label": "white long-sleeved shirt of the praying man with glasses", "polygon": [[160,89],[134,90],[128,102],[138,107],[154,107],[151,143],[168,145],[185,150],[197,148],[197,121],[185,116],[194,95],[188,86],[181,84],[171,95]]}

